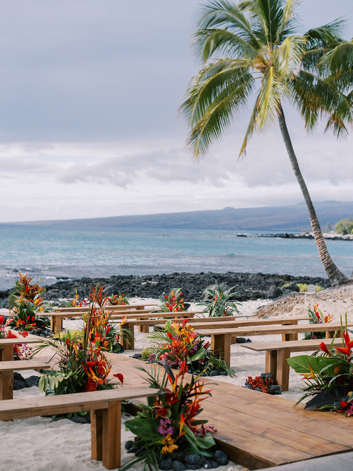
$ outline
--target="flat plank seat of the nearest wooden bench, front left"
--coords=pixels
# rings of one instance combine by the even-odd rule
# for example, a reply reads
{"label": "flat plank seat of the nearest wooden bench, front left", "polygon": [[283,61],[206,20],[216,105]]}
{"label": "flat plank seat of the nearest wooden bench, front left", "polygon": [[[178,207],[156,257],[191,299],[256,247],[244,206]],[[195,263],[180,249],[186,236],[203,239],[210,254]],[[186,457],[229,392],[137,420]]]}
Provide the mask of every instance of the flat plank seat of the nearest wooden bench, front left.
{"label": "flat plank seat of the nearest wooden bench, front left", "polygon": [[5,400],[0,403],[0,420],[104,409],[112,401],[154,396],[157,392],[152,388],[140,387]]}

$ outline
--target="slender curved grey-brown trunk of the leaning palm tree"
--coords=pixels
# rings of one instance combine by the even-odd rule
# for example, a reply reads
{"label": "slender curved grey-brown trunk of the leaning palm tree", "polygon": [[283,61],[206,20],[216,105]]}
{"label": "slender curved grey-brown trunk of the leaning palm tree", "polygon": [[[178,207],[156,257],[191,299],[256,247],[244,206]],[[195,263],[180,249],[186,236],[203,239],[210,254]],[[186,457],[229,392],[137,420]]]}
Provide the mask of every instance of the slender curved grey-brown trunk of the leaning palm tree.
{"label": "slender curved grey-brown trunk of the leaning palm tree", "polygon": [[280,122],[280,129],[281,129],[282,137],[284,140],[284,144],[286,146],[286,149],[289,155],[290,163],[292,164],[294,174],[297,178],[300,189],[302,190],[305,203],[309,211],[310,224],[311,224],[311,227],[313,228],[315,242],[319,251],[321,261],[326,270],[327,276],[329,277],[329,280],[332,286],[337,286],[337,284],[345,283],[348,281],[348,278],[336,267],[335,263],[330,257],[329,251],[327,250],[325,239],[323,238],[321,227],[317,219],[313,203],[311,201],[308,189],[305,185],[303,175],[301,174],[301,171],[299,169],[297,157],[293,150],[292,142],[289,137],[286,120],[284,119],[284,114],[283,114],[281,105],[280,105],[280,113],[278,116],[278,120]]}

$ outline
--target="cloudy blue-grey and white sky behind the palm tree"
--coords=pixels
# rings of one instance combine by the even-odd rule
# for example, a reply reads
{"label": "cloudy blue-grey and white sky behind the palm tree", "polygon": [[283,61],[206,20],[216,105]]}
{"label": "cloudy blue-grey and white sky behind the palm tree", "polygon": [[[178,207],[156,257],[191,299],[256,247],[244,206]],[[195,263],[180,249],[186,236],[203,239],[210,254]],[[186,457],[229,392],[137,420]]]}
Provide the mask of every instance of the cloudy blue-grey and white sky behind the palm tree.
{"label": "cloudy blue-grey and white sky behind the palm tree", "polygon": [[[195,162],[177,116],[199,64],[201,1],[2,0],[0,222],[297,204],[278,125],[252,138],[249,114]],[[352,0],[302,0],[300,32]],[[353,200],[353,138],[310,136],[284,106],[313,201]]]}

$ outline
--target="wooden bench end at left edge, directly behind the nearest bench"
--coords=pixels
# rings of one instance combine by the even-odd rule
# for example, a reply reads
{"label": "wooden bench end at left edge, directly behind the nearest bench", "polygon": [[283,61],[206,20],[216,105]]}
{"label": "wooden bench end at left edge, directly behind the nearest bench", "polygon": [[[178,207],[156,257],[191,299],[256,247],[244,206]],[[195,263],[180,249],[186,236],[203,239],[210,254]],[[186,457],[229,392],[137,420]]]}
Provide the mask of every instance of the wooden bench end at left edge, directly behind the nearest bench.
{"label": "wooden bench end at left edge, directly behind the nearest bench", "polygon": [[14,386],[14,371],[35,370],[48,368],[47,363],[37,360],[16,360],[0,362],[0,400],[12,399]]}

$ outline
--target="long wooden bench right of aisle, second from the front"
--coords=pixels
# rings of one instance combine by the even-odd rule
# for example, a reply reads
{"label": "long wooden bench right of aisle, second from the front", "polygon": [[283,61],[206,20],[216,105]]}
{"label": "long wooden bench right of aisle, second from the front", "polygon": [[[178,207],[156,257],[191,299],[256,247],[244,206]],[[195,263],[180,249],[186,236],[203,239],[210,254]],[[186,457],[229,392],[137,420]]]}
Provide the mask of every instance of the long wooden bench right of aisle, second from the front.
{"label": "long wooden bench right of aisle, second from the front", "polygon": [[[353,325],[353,322],[348,322]],[[230,366],[231,344],[236,343],[237,337],[253,336],[253,335],[282,335],[285,334],[285,341],[296,340],[293,335],[305,332],[326,332],[326,338],[333,338],[335,332],[340,335],[341,325],[329,322],[327,324],[301,324],[301,325],[259,325],[258,327],[239,327],[237,329],[200,329],[198,333],[201,335],[211,335],[211,350],[214,355],[223,359],[227,366]]]}

